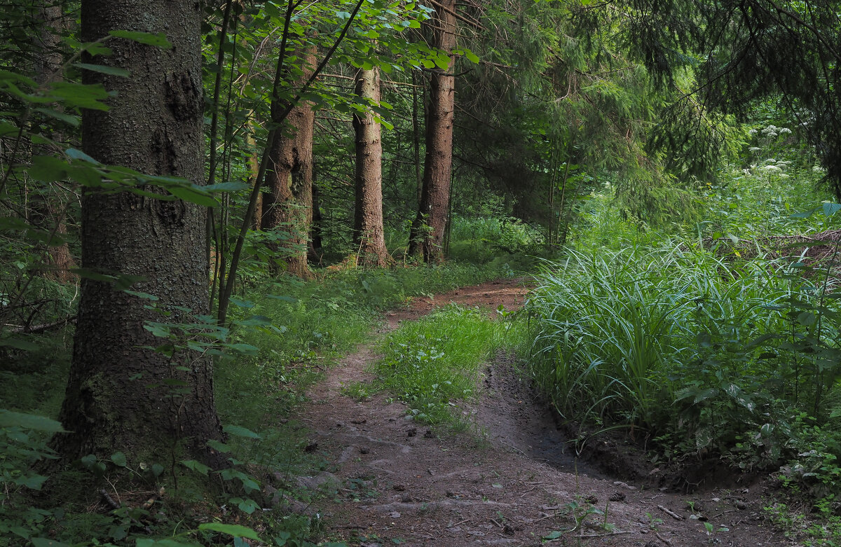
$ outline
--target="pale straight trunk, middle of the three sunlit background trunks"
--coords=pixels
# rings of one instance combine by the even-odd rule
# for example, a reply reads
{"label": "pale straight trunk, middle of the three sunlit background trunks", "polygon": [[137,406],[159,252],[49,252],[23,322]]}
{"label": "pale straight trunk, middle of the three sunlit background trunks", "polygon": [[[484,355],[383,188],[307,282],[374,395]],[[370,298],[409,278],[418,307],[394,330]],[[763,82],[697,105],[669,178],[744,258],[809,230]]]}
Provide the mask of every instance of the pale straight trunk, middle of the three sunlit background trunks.
{"label": "pale straight trunk, middle of the three sunlit background trunks", "polygon": [[[379,70],[357,71],[357,96],[379,103]],[[358,266],[388,266],[391,260],[383,233],[383,141],[381,128],[370,108],[353,114],[356,134],[357,176],[356,208],[353,218],[353,243]]]}

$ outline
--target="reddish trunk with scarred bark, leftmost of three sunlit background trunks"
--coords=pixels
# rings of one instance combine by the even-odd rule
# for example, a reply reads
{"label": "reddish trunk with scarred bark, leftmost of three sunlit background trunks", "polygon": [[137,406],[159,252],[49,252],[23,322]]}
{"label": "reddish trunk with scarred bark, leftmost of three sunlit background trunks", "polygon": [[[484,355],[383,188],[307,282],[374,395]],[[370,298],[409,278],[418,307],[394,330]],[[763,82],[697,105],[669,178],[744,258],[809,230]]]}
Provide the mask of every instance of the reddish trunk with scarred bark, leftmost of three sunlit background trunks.
{"label": "reddish trunk with scarred bark, leftmost of three sunlit background trunks", "polygon": [[[278,55],[283,55],[283,52]],[[303,59],[300,84],[309,79],[315,70],[315,46],[298,55]],[[272,118],[282,113],[288,105],[272,100]],[[273,123],[275,120],[272,119]],[[288,273],[309,276],[307,268],[307,240],[312,224],[313,181],[313,125],[315,113],[312,104],[301,101],[286,118],[293,134],[277,132],[269,150],[266,186],[269,192],[262,195],[262,229],[288,234],[288,239],[276,244],[278,263],[286,264]],[[283,260],[281,260],[283,259]],[[279,269],[275,269],[278,271]]]}

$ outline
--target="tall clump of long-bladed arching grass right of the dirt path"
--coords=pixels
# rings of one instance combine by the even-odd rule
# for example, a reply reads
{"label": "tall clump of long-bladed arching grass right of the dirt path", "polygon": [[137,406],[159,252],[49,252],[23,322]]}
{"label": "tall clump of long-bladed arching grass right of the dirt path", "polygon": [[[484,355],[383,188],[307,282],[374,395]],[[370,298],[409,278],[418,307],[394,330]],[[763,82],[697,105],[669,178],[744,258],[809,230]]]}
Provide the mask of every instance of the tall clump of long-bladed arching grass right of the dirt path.
{"label": "tall clump of long-bladed arching grass right of the dirt path", "polygon": [[764,457],[779,458],[773,431],[801,413],[828,420],[841,373],[833,283],[795,266],[677,242],[570,250],[542,267],[526,304],[531,374],[563,418],[624,424],[685,453],[767,435]]}

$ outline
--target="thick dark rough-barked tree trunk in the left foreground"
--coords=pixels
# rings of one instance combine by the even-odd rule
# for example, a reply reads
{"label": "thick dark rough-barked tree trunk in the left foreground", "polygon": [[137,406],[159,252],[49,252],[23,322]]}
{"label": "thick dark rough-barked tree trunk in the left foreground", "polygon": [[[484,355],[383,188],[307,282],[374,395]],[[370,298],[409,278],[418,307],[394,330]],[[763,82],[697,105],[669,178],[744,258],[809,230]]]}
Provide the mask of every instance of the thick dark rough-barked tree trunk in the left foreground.
{"label": "thick dark rough-barked tree trunk in the left foreground", "polygon": [[[88,63],[119,66],[130,76],[85,71],[84,82],[114,93],[108,112],[82,113],[82,148],[109,165],[202,184],[204,143],[201,73],[201,3],[151,0],[82,0],[85,42],[108,31],[163,31],[163,50],[108,39],[114,53]],[[206,447],[222,432],[214,408],[213,364],[198,352],[172,357],[146,349],[163,345],[144,329],[148,321],[177,323],[209,311],[204,255],[207,209],[134,193],[86,192],[82,197],[82,266],[140,276],[133,289],[149,300],[115,290],[112,283],[82,280],[73,360],[56,439],[68,459],[120,450],[130,458],[167,462],[181,444],[209,463]],[[182,340],[182,343],[184,340]]]}

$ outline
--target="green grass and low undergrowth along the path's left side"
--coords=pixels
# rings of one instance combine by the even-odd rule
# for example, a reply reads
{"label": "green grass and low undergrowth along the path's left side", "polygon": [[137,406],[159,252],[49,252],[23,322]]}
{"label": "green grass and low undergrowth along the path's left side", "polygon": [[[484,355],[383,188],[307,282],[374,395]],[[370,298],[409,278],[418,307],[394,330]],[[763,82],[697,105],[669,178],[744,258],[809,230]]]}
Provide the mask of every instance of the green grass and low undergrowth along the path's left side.
{"label": "green grass and low undergrowth along the path's left side", "polygon": [[[230,469],[214,472],[203,469],[198,462],[177,463],[178,455],[172,457],[172,472],[164,471],[172,455],[144,464],[124,461],[125,467],[116,463],[119,456],[117,460],[90,463],[101,465],[106,475],[119,483],[120,492],[130,488],[155,491],[161,485],[167,488],[160,508],[156,506],[163,517],[151,525],[153,535],[204,544],[225,542],[230,538],[212,538],[209,532],[196,530],[199,523],[194,518],[196,513],[206,511],[217,514],[218,507],[225,504],[235,515],[231,518],[261,529],[264,538],[277,544],[284,540],[287,544],[312,544],[309,542],[323,539],[324,530],[317,518],[289,515],[283,508],[259,511],[267,507],[260,492],[267,476],[279,477],[272,480],[273,486],[285,497],[304,503],[335,493],[304,492],[295,486],[295,476],[314,474],[329,466],[319,450],[304,450],[309,444],[307,429],[292,419],[305,400],[306,387],[339,356],[368,340],[384,309],[416,295],[513,275],[515,267],[506,261],[484,266],[451,263],[336,272],[308,282],[288,278],[264,282],[237,298],[230,314],[234,323],[228,342],[237,345],[241,353],[218,357],[215,363],[217,408],[228,439],[226,446],[214,447],[230,454]],[[41,336],[39,350],[15,354],[13,362],[3,363],[0,397],[4,407],[55,416],[70,360],[70,338],[62,334]],[[365,397],[369,388],[359,385],[348,389],[354,397]],[[117,512],[88,514],[82,504],[73,501],[77,496],[98,499],[97,492],[77,487],[94,471],[93,466],[89,471],[56,474],[52,483],[58,484],[59,490],[55,492],[68,495],[56,496],[61,509],[55,514],[30,510],[29,497],[21,485],[34,481],[26,474],[29,465],[48,453],[43,437],[19,428],[0,429],[0,448],[6,456],[0,458],[0,475],[5,477],[0,486],[7,492],[0,496],[0,529],[8,532],[8,527],[15,527],[27,534],[55,535],[57,540],[69,543],[133,542],[136,530],[131,518]],[[152,476],[155,471],[148,470],[156,465],[161,472]],[[125,534],[129,539],[121,539]],[[4,539],[0,539],[0,545]],[[23,538],[13,542],[24,543],[29,544]]]}

